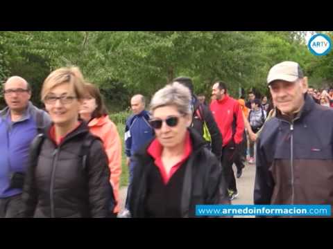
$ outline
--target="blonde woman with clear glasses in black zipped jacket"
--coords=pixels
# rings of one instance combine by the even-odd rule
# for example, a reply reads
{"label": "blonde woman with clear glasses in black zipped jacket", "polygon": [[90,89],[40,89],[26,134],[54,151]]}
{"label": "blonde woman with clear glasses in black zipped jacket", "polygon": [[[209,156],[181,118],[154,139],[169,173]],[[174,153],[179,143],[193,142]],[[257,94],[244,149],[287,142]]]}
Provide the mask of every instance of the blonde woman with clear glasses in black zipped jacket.
{"label": "blonde woman with clear glasses in black zipped jacket", "polygon": [[[42,101],[52,124],[39,146],[34,146],[37,136],[31,147],[22,216],[109,216],[112,187],[108,158],[101,140],[78,120],[84,96],[84,80],[78,68],[59,68],[46,77]],[[89,149],[83,151],[83,145]]]}

